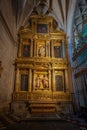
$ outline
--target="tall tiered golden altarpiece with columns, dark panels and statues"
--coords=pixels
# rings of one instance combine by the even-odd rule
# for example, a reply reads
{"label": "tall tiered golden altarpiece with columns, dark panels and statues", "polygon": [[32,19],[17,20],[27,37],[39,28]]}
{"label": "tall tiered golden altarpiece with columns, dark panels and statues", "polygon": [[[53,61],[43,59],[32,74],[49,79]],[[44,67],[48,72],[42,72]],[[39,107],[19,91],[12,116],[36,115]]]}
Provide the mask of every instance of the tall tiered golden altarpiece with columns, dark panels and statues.
{"label": "tall tiered golden altarpiece with columns, dark panels and statues", "polygon": [[66,41],[66,34],[56,29],[53,17],[30,16],[30,26],[19,31],[14,111],[20,111],[20,104],[26,102],[31,113],[70,109]]}

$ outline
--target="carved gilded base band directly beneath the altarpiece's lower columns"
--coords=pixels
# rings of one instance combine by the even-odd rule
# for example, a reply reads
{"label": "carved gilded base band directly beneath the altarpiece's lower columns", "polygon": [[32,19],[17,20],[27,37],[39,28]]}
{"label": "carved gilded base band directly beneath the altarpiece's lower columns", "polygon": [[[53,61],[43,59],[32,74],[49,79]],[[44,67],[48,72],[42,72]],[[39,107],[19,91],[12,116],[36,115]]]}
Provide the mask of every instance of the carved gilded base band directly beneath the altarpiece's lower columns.
{"label": "carved gilded base band directly beneath the altarpiece's lower columns", "polygon": [[71,101],[71,95],[69,93],[50,93],[50,92],[35,92],[25,93],[17,92],[13,94],[14,100],[58,100],[58,101]]}

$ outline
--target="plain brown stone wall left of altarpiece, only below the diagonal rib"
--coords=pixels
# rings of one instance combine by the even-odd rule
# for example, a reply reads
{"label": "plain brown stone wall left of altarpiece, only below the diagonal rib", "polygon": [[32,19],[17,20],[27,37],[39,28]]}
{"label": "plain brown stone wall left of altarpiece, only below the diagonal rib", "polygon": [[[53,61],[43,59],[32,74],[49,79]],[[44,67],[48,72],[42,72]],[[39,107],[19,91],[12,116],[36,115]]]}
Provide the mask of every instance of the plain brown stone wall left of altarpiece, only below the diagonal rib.
{"label": "plain brown stone wall left of altarpiece, only below the diagonal rib", "polygon": [[0,22],[0,60],[2,61],[2,75],[0,78],[0,106],[11,101],[14,89],[14,60],[17,54],[17,46],[12,43],[5,28]]}

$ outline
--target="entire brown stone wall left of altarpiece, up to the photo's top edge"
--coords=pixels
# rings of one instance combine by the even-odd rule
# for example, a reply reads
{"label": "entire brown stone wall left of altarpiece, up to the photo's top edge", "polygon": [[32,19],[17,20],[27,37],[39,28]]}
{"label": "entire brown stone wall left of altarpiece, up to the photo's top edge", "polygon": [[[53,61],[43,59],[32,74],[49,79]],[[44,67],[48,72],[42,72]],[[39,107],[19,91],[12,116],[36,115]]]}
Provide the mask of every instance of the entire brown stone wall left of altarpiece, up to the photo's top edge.
{"label": "entire brown stone wall left of altarpiece, up to the photo's top edge", "polygon": [[3,67],[0,78],[0,111],[3,110],[4,112],[9,108],[12,99],[15,78],[15,66],[13,64],[18,48],[16,23],[10,2],[4,0],[0,4],[0,61]]}

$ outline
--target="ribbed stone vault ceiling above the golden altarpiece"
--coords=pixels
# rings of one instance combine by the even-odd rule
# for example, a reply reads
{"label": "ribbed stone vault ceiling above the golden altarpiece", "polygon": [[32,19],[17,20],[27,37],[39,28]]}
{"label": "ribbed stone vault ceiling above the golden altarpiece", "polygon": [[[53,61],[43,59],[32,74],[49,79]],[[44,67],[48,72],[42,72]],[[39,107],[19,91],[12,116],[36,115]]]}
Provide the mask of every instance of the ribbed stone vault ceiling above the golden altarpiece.
{"label": "ribbed stone vault ceiling above the golden altarpiece", "polygon": [[[46,4],[48,15],[55,18],[58,27],[71,34],[73,15],[77,0],[0,0],[0,12],[15,38],[21,26],[27,26],[33,9],[39,8],[40,1]],[[46,13],[46,12],[45,12]],[[9,14],[7,16],[7,14]]]}

